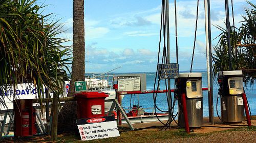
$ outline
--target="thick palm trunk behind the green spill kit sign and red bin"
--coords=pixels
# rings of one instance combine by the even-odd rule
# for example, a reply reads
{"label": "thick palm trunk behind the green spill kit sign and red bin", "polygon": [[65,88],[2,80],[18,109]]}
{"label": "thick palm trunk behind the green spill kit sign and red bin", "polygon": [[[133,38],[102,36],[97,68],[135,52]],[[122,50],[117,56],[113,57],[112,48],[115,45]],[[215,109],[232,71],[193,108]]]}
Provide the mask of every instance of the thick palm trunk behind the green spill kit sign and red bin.
{"label": "thick palm trunk behind the green spill kit sign and red bin", "polygon": [[[84,0],[73,0],[73,61],[68,97],[74,96],[74,82],[84,81],[84,46]],[[77,130],[76,108],[76,102],[66,102],[64,104],[58,117],[58,131],[70,132]]]}

